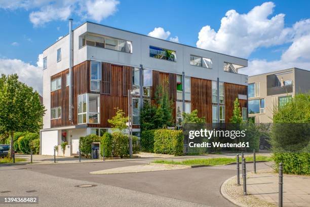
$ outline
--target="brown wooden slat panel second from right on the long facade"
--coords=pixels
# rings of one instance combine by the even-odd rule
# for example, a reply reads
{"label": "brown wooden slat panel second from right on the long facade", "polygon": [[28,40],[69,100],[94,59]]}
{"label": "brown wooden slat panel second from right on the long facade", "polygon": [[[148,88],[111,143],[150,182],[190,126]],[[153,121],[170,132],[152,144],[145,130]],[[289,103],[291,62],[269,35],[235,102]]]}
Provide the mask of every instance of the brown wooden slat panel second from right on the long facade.
{"label": "brown wooden slat panel second from right on the long facade", "polygon": [[191,78],[191,111],[197,109],[199,117],[212,123],[212,81]]}

